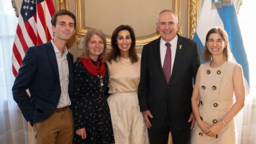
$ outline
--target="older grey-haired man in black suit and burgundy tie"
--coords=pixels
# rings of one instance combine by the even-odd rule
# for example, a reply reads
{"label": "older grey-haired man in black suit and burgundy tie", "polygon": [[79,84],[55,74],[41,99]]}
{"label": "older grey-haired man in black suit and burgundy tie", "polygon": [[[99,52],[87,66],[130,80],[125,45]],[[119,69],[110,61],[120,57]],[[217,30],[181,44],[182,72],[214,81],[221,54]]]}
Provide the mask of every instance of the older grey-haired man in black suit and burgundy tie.
{"label": "older grey-haired man in black suit and burgundy tie", "polygon": [[169,132],[175,144],[189,143],[194,127],[192,79],[201,63],[200,50],[190,39],[177,35],[178,18],[171,10],[160,12],[156,27],[161,37],[142,50],[140,111],[151,144],[167,143]]}

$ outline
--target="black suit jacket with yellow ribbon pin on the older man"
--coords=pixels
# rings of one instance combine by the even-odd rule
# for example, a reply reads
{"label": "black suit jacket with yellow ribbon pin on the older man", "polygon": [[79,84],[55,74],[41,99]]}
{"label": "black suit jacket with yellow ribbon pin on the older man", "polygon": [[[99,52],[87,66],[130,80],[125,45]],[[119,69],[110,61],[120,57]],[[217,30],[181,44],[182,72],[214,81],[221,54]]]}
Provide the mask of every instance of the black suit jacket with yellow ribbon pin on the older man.
{"label": "black suit jacket with yellow ribbon pin on the older man", "polygon": [[161,66],[160,38],[143,47],[138,96],[140,111],[150,110],[153,115],[149,118],[152,128],[161,128],[166,113],[177,130],[190,127],[192,78],[200,63],[198,45],[178,35],[173,72],[167,84]]}

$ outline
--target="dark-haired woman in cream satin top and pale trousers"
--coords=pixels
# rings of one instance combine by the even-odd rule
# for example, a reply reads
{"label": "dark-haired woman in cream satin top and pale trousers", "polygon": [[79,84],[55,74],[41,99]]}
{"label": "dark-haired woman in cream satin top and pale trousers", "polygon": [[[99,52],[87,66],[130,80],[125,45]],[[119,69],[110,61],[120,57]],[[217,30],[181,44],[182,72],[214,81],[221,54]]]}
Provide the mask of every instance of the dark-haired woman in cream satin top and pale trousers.
{"label": "dark-haired woman in cream satin top and pale trousers", "polygon": [[135,33],[130,26],[119,26],[112,34],[108,55],[110,90],[108,105],[117,144],[146,143],[146,125],[137,96],[140,80],[140,54],[135,49]]}

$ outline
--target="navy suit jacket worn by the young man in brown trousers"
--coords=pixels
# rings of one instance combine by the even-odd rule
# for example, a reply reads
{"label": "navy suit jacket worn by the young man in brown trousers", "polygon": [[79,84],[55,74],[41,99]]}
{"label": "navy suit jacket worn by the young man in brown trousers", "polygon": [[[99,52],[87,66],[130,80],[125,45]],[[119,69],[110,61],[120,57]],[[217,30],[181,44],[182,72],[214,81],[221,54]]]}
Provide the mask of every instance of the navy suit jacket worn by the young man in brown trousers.
{"label": "navy suit jacket worn by the young man in brown trousers", "polygon": [[[68,93],[73,98],[73,56],[67,54]],[[26,95],[26,89],[31,96]],[[12,87],[12,95],[25,119],[33,124],[53,114],[60,100],[60,79],[53,45],[50,42],[28,48]]]}

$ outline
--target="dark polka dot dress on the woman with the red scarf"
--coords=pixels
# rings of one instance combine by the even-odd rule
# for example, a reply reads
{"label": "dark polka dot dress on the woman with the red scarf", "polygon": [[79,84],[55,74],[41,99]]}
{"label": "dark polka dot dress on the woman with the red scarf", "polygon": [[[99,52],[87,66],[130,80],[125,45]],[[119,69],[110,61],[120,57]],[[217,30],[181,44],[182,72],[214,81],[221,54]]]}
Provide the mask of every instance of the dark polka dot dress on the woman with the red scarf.
{"label": "dark polka dot dress on the woman with the red scarf", "polygon": [[[104,64],[107,69],[106,63]],[[74,133],[74,144],[115,143],[110,109],[106,101],[108,79],[109,74],[106,71],[104,85],[100,90],[100,79],[91,75],[82,62],[74,63],[74,127],[75,131],[85,128],[87,134],[85,139],[81,139]]]}

